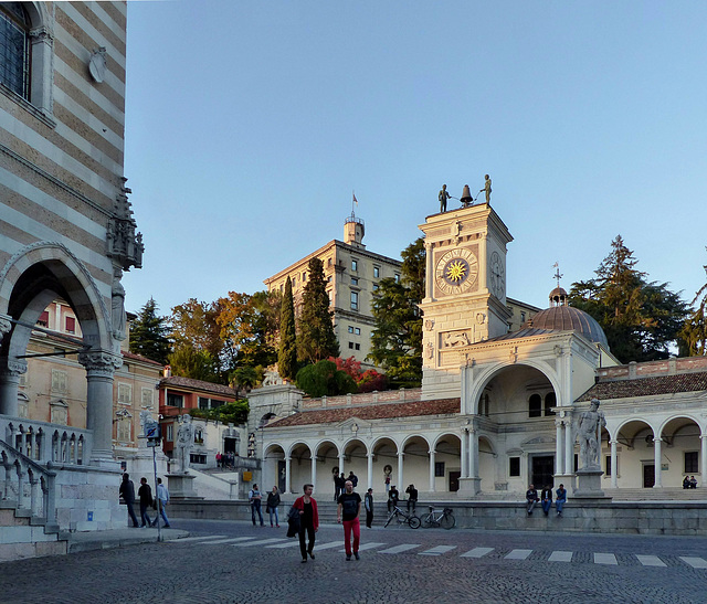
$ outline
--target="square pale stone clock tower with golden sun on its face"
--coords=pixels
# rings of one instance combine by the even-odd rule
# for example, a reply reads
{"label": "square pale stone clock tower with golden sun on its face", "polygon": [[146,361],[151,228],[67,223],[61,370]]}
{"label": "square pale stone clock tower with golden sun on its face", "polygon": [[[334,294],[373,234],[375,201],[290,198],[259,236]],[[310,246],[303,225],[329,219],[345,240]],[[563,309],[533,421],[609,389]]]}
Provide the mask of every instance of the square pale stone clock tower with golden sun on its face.
{"label": "square pale stone clock tower with golden sun on its face", "polygon": [[508,229],[488,203],[428,216],[422,318],[424,399],[460,395],[474,343],[508,331]]}

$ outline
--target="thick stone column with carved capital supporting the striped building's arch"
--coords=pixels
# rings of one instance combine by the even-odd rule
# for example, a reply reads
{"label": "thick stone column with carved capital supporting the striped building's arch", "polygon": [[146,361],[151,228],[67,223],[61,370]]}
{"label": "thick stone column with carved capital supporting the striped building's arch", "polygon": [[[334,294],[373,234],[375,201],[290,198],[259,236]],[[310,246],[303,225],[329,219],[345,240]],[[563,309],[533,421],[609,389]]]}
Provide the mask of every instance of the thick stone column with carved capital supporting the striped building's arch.
{"label": "thick stone column with carved capital supporting the striped building's arch", "polygon": [[113,465],[113,375],[123,359],[112,352],[82,352],[86,368],[86,427],[93,434],[91,464]]}

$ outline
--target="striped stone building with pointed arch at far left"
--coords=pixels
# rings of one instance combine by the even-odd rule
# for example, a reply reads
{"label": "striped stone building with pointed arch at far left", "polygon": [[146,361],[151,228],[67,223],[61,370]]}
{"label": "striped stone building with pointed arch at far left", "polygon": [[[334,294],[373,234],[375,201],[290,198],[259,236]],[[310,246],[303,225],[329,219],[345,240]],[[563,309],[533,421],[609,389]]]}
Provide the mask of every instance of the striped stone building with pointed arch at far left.
{"label": "striped stone building with pointed arch at far left", "polygon": [[[49,510],[38,496],[38,513],[52,516],[45,486],[60,485],[63,527],[106,528],[119,511],[112,438],[126,336],[120,280],[143,255],[124,177],[126,14],[125,1],[0,4],[0,437],[19,468],[18,489],[32,480],[42,488]],[[57,298],[83,335],[81,468],[78,442],[56,459],[48,426],[18,413],[31,331]],[[48,460],[60,467],[54,477],[42,473]]]}

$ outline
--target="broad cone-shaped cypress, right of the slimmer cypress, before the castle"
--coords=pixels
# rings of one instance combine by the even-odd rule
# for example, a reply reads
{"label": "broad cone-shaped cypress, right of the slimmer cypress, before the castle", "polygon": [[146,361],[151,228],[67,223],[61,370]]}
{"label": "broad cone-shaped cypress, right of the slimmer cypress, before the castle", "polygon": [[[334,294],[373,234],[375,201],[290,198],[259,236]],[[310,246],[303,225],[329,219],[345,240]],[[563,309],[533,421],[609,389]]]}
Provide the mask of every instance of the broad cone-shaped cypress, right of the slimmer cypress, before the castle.
{"label": "broad cone-shaped cypress, right of the slimmer cypress, before the castle", "polygon": [[329,310],[329,296],[324,279],[324,264],[319,258],[309,261],[307,285],[302,299],[297,353],[299,359],[316,363],[329,357],[339,356],[333,324],[334,312]]}

